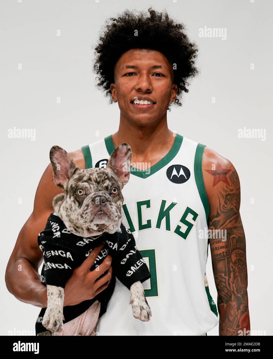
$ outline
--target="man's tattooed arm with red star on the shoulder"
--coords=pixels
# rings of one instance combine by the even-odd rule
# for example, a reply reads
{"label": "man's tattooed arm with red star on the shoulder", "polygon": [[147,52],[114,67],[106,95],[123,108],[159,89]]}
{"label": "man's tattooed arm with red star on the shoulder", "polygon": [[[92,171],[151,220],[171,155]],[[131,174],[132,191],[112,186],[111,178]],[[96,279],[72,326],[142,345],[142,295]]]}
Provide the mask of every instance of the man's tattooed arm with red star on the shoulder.
{"label": "man's tattooed arm with red star on the shoulder", "polygon": [[246,243],[239,212],[239,177],[230,161],[207,147],[202,171],[210,207],[209,229],[221,230],[222,234],[219,239],[214,232],[209,239],[218,293],[219,335],[249,335]]}

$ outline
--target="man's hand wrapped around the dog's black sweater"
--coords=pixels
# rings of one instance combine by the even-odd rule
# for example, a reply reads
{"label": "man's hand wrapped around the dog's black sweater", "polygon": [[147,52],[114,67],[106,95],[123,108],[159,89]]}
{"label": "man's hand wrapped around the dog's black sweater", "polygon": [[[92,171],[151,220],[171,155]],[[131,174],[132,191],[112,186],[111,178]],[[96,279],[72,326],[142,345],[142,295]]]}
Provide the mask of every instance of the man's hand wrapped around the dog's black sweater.
{"label": "man's hand wrapped around the dog's black sweater", "polygon": [[[74,306],[84,300],[93,299],[107,288],[112,277],[112,257],[108,255],[97,269],[90,271],[102,247],[103,244],[94,248],[85,261],[74,269],[65,285],[64,307]],[[103,273],[105,274],[103,275]]]}

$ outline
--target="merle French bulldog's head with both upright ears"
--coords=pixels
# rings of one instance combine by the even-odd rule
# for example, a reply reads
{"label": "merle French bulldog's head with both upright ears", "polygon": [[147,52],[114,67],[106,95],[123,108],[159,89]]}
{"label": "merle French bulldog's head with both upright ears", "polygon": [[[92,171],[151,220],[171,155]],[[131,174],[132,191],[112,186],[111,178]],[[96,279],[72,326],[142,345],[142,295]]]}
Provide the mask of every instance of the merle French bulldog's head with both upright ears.
{"label": "merle French bulldog's head with both upright ears", "polygon": [[124,201],[121,190],[129,181],[131,158],[131,147],[122,143],[106,168],[80,169],[63,148],[51,148],[54,182],[64,191],[54,197],[53,208],[70,232],[92,237],[119,229]]}

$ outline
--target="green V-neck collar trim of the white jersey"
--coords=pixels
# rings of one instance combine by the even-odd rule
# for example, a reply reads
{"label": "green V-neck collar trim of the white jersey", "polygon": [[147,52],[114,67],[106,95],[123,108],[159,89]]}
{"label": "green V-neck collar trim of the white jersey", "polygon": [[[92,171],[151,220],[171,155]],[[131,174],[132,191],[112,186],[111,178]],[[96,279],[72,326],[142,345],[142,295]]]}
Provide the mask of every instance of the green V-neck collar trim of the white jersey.
{"label": "green V-neck collar trim of the white jersey", "polygon": [[[105,137],[104,141],[105,141],[105,145],[106,145],[108,154],[111,155],[115,149],[112,135]],[[146,171],[145,170],[144,171],[137,170],[136,171],[136,168],[134,166],[131,166],[130,174],[134,174],[135,176],[142,177],[142,178],[147,178],[147,177],[151,176],[152,174],[156,173],[157,171],[159,171],[159,169],[164,167],[173,158],[175,158],[175,156],[177,155],[177,153],[181,147],[182,141],[183,141],[183,136],[176,134],[175,140],[173,141],[170,151],[168,151],[168,153],[163,158],[161,158],[161,160],[159,160],[157,163],[155,163],[154,165],[152,165],[149,168],[149,173],[147,173],[148,170],[146,170]]]}

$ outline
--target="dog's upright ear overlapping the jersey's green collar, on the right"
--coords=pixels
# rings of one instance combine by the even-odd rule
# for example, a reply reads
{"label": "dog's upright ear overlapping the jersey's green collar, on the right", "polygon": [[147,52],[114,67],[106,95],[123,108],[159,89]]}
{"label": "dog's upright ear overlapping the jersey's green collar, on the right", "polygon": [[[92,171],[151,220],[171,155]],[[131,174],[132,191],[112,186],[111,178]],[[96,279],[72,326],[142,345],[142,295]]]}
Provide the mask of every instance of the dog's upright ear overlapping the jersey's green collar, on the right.
{"label": "dog's upright ear overlapping the jersey's green collar, on the right", "polygon": [[129,181],[130,166],[132,159],[131,146],[128,143],[122,143],[112,152],[106,168],[112,169],[120,178],[123,185]]}

